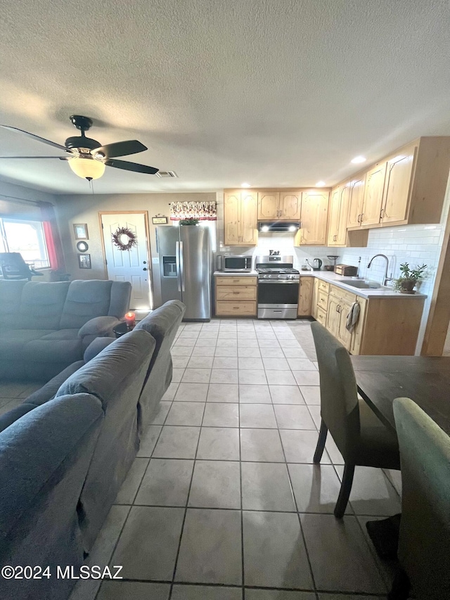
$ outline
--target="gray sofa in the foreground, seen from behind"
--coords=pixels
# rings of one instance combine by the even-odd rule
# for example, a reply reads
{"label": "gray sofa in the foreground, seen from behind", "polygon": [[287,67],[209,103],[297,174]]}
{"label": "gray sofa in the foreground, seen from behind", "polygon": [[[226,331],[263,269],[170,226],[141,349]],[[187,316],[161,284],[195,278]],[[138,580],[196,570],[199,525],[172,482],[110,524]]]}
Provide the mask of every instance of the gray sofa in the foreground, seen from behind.
{"label": "gray sofa in the foreground, seen from behind", "polygon": [[[76,572],[136,457],[142,415],[153,416],[171,381],[183,314],[181,302],[167,302],[121,338],[94,340],[84,360],[0,417],[2,565],[56,573],[63,561]],[[0,598],[65,599],[74,583],[0,580]]]}

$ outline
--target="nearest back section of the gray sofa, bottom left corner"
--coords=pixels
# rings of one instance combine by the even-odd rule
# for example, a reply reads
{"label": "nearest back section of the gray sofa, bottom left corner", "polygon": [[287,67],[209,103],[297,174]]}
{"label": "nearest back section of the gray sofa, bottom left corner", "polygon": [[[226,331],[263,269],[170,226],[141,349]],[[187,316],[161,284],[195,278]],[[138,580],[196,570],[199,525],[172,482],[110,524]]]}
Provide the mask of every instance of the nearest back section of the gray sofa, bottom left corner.
{"label": "nearest back section of the gray sofa, bottom left corner", "polygon": [[83,562],[77,504],[103,411],[89,395],[60,397],[0,433],[0,563],[50,566],[52,577],[2,580],[2,599],[68,598],[56,565]]}

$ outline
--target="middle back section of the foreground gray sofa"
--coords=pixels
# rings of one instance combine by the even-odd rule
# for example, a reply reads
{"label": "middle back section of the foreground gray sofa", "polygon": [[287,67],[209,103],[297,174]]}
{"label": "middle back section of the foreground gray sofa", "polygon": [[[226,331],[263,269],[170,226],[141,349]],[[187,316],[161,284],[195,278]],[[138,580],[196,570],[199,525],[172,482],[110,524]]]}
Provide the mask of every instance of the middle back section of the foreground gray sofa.
{"label": "middle back section of the foreground gray sofa", "polygon": [[86,551],[138,452],[138,400],[154,349],[150,333],[130,331],[70,376],[56,394],[89,390],[105,412],[78,509]]}

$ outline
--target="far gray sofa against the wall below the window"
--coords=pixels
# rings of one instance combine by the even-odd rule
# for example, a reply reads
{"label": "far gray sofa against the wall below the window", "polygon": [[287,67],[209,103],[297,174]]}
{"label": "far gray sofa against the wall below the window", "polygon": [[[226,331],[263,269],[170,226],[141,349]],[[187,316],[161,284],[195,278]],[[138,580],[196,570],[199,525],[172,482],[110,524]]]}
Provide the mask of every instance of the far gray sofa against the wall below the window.
{"label": "far gray sofa against the wall below the window", "polygon": [[113,336],[130,296],[126,281],[0,280],[0,379],[49,381]]}

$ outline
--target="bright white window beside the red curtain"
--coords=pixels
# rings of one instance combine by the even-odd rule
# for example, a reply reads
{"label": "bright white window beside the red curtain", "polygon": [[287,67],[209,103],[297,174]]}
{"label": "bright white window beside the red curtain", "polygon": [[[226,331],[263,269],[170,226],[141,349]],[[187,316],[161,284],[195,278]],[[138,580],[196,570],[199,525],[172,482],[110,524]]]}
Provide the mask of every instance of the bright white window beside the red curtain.
{"label": "bright white window beside the red curtain", "polygon": [[19,252],[34,269],[50,267],[44,226],[40,221],[0,218],[0,251]]}

